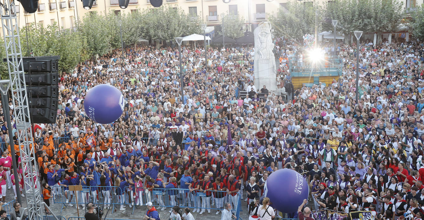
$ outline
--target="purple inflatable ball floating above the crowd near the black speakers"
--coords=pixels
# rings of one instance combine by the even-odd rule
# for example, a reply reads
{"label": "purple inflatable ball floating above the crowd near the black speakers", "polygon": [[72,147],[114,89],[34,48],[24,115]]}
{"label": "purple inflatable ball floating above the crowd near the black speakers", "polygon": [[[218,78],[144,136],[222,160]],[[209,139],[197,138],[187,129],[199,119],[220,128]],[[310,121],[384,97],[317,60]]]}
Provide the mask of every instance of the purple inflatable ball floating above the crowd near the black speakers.
{"label": "purple inflatable ball floating above the crowd near the black speakers", "polygon": [[95,122],[109,124],[122,115],[124,97],[122,92],[112,85],[96,85],[84,98],[84,110]]}

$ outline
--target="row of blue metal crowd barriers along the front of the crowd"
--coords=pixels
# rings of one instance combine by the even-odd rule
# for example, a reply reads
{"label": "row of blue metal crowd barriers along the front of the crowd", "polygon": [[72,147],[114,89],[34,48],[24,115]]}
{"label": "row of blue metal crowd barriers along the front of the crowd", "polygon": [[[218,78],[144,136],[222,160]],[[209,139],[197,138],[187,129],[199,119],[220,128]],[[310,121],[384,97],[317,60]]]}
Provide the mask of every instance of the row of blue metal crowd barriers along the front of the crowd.
{"label": "row of blue metal crowd barriers along the front of the crowd", "polygon": [[[241,203],[240,195],[238,193],[232,196],[227,195],[226,191],[213,191],[208,195],[207,193],[200,192],[198,190],[190,192],[188,189],[180,188],[155,188],[153,190],[145,190],[145,188],[125,187],[124,190],[122,190],[120,187],[115,186],[84,186],[82,191],[76,192],[76,196],[75,192],[66,191],[68,199],[66,199],[65,196],[59,196],[65,195],[65,187],[63,186],[53,186],[52,192],[53,203],[63,204],[60,212],[63,211],[63,208],[68,207],[69,204],[76,206],[77,201],[75,197],[78,197],[79,206],[84,206],[88,202],[93,202],[99,206],[107,206],[108,209],[111,209],[112,213],[114,212],[115,207],[119,208],[121,205],[122,207],[124,205],[131,205],[133,206],[133,214],[137,203],[144,205],[149,201],[153,203],[156,209],[158,209],[158,207],[172,208],[173,206],[180,206],[181,208],[189,207],[190,209],[204,209],[205,211],[221,210],[223,209],[225,202],[233,203],[233,211],[237,211],[237,209],[240,210]],[[103,193],[105,194],[103,195]],[[109,198],[106,198],[107,195],[110,195],[110,200]]]}

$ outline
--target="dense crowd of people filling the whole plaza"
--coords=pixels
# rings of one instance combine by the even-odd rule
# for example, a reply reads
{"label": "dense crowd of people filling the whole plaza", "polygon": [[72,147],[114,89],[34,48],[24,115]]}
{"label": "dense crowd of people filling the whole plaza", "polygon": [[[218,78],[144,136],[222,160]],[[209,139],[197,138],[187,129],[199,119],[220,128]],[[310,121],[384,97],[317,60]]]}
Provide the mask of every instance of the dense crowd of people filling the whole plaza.
{"label": "dense crowd of people filling the whole plaza", "polygon": [[[307,50],[284,38],[274,43],[276,83],[290,89],[289,60],[304,59]],[[334,51],[329,44],[321,47],[326,54]],[[343,74],[332,84],[297,88],[288,97],[254,85],[254,49],[245,47],[209,47],[205,61],[201,47],[184,45],[182,100],[176,47],[128,47],[125,60],[114,50],[63,72],[56,124],[34,129],[40,179],[49,189],[45,199],[64,195],[73,206],[68,187],[81,184],[91,186],[75,195],[81,203],[104,203],[106,209],[115,193],[120,210],[153,202],[161,211],[166,203],[201,214],[212,206],[216,214],[235,209],[240,199],[257,217],[266,179],[286,168],[310,182],[315,209],[371,210],[378,220],[420,219],[423,44],[362,42],[359,68],[354,48],[338,44]],[[103,83],[119,88],[125,99],[122,116],[112,124],[98,124],[84,111],[87,91]],[[9,107],[13,110],[11,102]],[[3,117],[0,123],[0,137],[8,142]],[[19,146],[14,148],[19,157]],[[8,146],[0,158],[3,198],[15,184],[11,156]],[[152,193],[175,188],[187,191]],[[295,211],[288,217],[296,217]]]}

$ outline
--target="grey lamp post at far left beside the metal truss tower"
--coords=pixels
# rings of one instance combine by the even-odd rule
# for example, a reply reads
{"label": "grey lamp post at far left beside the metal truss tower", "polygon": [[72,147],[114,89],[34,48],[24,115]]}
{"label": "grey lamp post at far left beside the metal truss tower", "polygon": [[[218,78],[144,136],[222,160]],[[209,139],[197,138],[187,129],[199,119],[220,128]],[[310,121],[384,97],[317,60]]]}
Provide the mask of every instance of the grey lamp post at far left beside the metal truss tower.
{"label": "grey lamp post at far left beside the metal truss tower", "polygon": [[9,98],[8,91],[10,88],[10,80],[0,80],[0,91],[1,91],[1,101],[3,105],[3,113],[7,123],[7,131],[9,134],[9,145],[10,145],[10,154],[12,155],[12,166],[13,166],[13,175],[15,177],[15,189],[16,189],[16,198],[19,203],[21,203],[21,194],[19,193],[19,178],[17,172],[17,163],[16,163],[16,153],[13,142],[12,134],[12,121],[10,119],[10,109],[9,109]]}

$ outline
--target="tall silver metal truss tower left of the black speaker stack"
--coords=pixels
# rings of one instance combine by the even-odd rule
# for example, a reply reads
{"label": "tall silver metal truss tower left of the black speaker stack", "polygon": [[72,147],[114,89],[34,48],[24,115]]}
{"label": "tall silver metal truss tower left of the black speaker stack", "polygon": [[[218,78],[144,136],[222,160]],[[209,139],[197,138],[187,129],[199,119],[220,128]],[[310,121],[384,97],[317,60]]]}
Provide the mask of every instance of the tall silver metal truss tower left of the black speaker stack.
{"label": "tall silver metal truss tower left of the black speaker stack", "polygon": [[41,220],[42,206],[44,205],[40,193],[39,168],[36,162],[36,147],[33,143],[28,96],[25,87],[17,10],[14,0],[4,0],[1,6],[0,16],[12,91],[11,96],[14,104],[14,123],[18,133],[18,144],[21,146],[22,178],[24,179],[28,218],[30,220]]}

